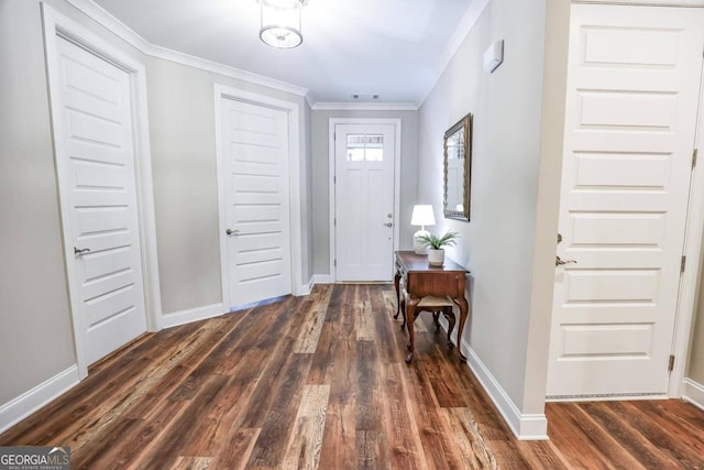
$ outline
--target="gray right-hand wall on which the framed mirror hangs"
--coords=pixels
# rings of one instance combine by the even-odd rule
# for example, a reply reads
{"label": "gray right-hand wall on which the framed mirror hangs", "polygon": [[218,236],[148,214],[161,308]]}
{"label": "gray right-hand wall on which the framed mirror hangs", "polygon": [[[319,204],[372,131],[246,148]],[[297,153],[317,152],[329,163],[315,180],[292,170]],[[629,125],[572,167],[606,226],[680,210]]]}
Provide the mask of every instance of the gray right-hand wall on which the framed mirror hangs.
{"label": "gray right-hand wall on which the framed mirror hangs", "polygon": [[[543,409],[547,345],[530,350],[529,335],[547,343],[549,323],[529,329],[535,292],[552,292],[551,276],[534,285],[544,26],[544,0],[490,2],[424,102],[419,123],[418,196],[442,214],[442,135],[474,114],[471,221],[440,219],[435,229],[461,236],[448,254],[472,272],[464,338],[522,413]],[[488,75],[483,54],[497,40],[504,40],[504,63]],[[557,227],[554,206],[557,199],[544,223]],[[541,364],[530,386],[542,387],[543,396],[525,404],[529,360]]]}

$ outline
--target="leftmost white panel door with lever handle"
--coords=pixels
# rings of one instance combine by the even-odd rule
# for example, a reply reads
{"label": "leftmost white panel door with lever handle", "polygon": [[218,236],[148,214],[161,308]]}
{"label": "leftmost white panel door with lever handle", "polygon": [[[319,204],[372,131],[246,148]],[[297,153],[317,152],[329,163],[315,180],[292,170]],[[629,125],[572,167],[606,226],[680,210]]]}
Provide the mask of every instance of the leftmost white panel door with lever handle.
{"label": "leftmost white panel door with lever handle", "polygon": [[[90,364],[146,330],[127,72],[64,39],[55,136],[77,332]],[[77,303],[74,303],[76,305]],[[76,316],[76,313],[74,313]]]}

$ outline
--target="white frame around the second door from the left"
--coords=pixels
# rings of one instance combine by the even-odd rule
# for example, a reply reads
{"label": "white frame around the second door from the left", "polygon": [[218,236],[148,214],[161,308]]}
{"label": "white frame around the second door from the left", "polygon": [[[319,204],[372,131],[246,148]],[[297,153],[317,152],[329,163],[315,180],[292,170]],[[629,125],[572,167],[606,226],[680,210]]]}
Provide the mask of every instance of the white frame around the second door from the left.
{"label": "white frame around the second door from the left", "polygon": [[218,215],[220,231],[220,278],[222,285],[222,305],[230,308],[230,283],[228,274],[227,250],[227,182],[223,171],[224,150],[222,149],[222,112],[221,99],[234,99],[252,105],[285,111],[288,121],[288,178],[290,199],[290,270],[292,293],[305,295],[308,293],[308,284],[301,281],[301,218],[300,218],[300,107],[292,101],[284,101],[265,95],[245,91],[226,85],[215,85],[215,123],[216,123],[216,155],[218,167]]}

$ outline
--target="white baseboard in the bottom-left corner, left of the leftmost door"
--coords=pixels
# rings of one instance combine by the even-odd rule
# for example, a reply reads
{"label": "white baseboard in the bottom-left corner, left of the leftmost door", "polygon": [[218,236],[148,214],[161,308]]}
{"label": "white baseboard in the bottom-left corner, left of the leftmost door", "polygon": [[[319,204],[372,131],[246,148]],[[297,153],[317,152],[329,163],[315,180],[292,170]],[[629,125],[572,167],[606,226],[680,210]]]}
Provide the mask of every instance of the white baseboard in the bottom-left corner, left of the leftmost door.
{"label": "white baseboard in the bottom-left corner, left of the leftmost door", "polygon": [[36,385],[0,406],[0,433],[11,428],[57,396],[80,382],[78,365],[72,365],[50,380]]}

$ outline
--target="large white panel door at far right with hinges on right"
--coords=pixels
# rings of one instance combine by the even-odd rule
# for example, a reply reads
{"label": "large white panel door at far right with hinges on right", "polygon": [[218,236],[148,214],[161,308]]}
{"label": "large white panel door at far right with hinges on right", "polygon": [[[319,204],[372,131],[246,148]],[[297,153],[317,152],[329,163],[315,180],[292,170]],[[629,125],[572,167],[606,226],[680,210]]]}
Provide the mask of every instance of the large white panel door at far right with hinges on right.
{"label": "large white panel door at far right with hinges on right", "polygon": [[667,394],[704,10],[572,6],[549,396]]}

